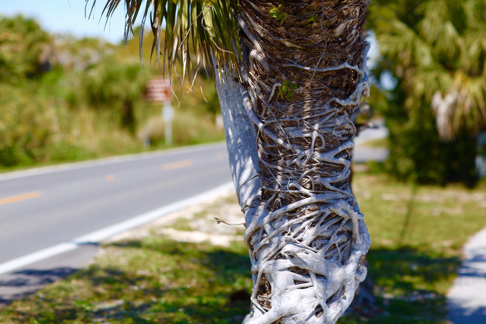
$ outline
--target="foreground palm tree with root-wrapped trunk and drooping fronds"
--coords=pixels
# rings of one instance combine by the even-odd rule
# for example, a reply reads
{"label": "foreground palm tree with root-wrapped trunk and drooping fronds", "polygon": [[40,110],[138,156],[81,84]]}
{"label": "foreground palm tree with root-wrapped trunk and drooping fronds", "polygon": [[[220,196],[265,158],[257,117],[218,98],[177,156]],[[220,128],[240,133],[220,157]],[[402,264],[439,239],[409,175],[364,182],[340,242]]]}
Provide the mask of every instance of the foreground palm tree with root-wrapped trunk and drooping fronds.
{"label": "foreground palm tree with root-wrapped trunk and drooping fronds", "polygon": [[[108,0],[107,17],[119,2]],[[368,93],[369,0],[125,4],[125,40],[139,14],[140,35],[150,16],[163,70],[177,64],[177,77],[193,80],[203,66],[216,80],[252,262],[243,323],[336,323],[370,245],[347,182],[349,116]]]}

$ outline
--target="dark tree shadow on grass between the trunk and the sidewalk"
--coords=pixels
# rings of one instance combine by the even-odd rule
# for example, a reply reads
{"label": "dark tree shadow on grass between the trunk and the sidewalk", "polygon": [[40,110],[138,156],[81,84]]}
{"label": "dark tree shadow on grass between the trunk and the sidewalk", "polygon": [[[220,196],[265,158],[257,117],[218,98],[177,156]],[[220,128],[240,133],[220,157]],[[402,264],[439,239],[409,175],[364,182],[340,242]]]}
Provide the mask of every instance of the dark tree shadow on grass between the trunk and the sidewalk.
{"label": "dark tree shadow on grass between the trunk and the sidewalk", "polygon": [[458,257],[428,254],[411,247],[371,249],[368,276],[374,284],[377,306],[374,317],[349,314],[339,324],[445,323],[444,291],[455,277]]}

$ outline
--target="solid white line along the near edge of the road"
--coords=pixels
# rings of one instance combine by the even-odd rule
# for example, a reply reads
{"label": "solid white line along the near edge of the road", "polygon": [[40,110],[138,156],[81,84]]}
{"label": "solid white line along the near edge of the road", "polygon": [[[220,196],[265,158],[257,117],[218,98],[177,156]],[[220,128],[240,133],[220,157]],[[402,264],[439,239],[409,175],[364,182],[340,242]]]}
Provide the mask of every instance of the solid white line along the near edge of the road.
{"label": "solid white line along the near edge of the road", "polygon": [[190,207],[192,205],[204,203],[209,199],[214,199],[215,197],[219,197],[223,194],[229,193],[231,190],[234,190],[233,183],[227,182],[221,186],[218,186],[213,189],[209,189],[203,193],[198,195],[185,198],[179,200],[175,203],[165,205],[160,208],[156,208],[152,211],[143,213],[141,215],[135,216],[131,219],[128,219],[123,222],[119,222],[117,224],[107,226],[100,230],[91,232],[89,234],[77,237],[72,239],[68,242],[62,242],[51,247],[42,249],[40,251],[30,253],[25,256],[17,257],[16,259],[4,262],[0,264],[0,274],[7,273],[12,270],[16,270],[18,268],[27,266],[37,261],[41,261],[47,259],[51,256],[56,256],[58,254],[68,252],[71,250],[75,250],[78,247],[86,244],[98,243],[103,241],[104,239],[108,239],[116,234],[121,232],[127,231],[132,228],[139,227],[146,223],[155,221],[167,214],[173,213],[175,211],[181,210],[183,208]]}

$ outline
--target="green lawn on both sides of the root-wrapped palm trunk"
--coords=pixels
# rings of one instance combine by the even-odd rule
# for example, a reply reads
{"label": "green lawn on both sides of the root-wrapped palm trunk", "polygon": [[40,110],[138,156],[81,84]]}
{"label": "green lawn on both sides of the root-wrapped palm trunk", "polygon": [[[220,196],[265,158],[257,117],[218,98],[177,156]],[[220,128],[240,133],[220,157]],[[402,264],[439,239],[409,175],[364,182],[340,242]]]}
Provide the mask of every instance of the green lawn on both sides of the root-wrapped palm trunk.
{"label": "green lawn on both sides of the root-wrapped palm trunk", "polygon": [[[338,323],[445,324],[461,246],[486,226],[485,186],[413,187],[370,172],[356,172],[353,186],[373,240],[369,276],[382,311]],[[106,244],[86,270],[1,309],[0,323],[241,323],[251,291],[243,244],[154,233]]]}

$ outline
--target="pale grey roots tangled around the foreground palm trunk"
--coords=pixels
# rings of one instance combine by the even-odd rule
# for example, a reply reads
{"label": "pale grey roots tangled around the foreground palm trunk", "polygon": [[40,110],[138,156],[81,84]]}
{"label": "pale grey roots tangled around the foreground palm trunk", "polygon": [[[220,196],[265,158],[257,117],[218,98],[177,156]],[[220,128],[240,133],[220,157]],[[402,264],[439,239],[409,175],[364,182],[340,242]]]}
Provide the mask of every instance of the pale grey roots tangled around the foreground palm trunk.
{"label": "pale grey roots tangled around the foreground palm trunk", "polygon": [[[327,122],[335,110],[330,106],[330,102],[337,102],[341,106],[356,105],[369,91],[364,63],[360,67],[343,64],[332,69],[341,68],[353,68],[359,72],[360,78],[355,91],[345,99],[330,99],[325,107],[321,108],[324,112],[320,113],[328,117],[306,127],[309,133],[297,128],[285,130],[287,136],[292,138],[310,138],[312,145],[309,150],[304,151],[280,138],[274,133],[275,128],[268,128],[272,123],[279,121],[260,121],[253,112],[253,102],[247,101],[247,104],[251,105],[248,109],[250,119],[260,134],[285,150],[293,152],[296,166],[318,161],[342,165],[343,168],[337,174],[309,177],[313,184],[329,188],[328,193],[315,194],[299,185],[305,174],[299,175],[296,179],[279,179],[280,188],[292,188],[287,192],[310,197],[282,206],[273,212],[257,212],[251,222],[247,222],[245,242],[251,251],[254,291],[253,310],[245,318],[245,324],[272,324],[278,321],[285,324],[335,323],[350,305],[354,291],[366,275],[366,268],[360,260],[368,251],[370,239],[363,215],[359,213],[350,192],[332,186],[333,183],[343,181],[349,176],[350,161],[346,156],[347,152],[354,148],[354,143],[347,141],[326,153],[315,153],[313,150],[313,142],[318,134],[333,132],[336,124],[342,126],[349,123],[350,127],[353,127],[350,120],[344,117]],[[273,86],[268,102],[273,97],[276,86],[278,85]],[[292,120],[296,119],[298,118]],[[311,208],[308,213],[302,212],[302,207],[315,203],[327,204],[319,205],[314,211]],[[300,217],[295,218],[294,215]],[[300,269],[300,273],[295,273],[295,269]],[[269,286],[271,292],[259,299],[258,291],[262,285]],[[271,307],[266,307],[265,303],[271,303]]]}

